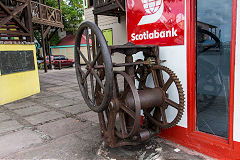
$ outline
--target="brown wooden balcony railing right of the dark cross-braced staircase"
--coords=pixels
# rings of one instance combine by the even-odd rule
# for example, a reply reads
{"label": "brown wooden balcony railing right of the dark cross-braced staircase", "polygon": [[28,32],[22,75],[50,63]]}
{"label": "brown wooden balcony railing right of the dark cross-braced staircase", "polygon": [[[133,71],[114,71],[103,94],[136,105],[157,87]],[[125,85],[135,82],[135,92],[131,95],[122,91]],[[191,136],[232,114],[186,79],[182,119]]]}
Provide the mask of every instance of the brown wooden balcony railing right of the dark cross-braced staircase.
{"label": "brown wooden balcony railing right of the dark cross-braced staircase", "polygon": [[32,22],[63,28],[62,12],[59,9],[31,1]]}

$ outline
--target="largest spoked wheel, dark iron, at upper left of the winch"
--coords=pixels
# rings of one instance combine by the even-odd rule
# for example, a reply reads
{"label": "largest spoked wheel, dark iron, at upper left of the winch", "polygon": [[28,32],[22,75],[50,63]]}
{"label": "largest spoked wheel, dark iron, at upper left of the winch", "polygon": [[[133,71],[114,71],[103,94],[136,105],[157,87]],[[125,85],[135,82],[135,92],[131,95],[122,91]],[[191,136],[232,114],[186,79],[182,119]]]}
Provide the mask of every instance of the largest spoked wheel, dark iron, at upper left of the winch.
{"label": "largest spoked wheel, dark iron, at upper left of the winch", "polygon": [[[79,26],[74,53],[82,96],[90,109],[101,112],[108,107],[112,97],[113,68],[106,40],[98,26],[87,21]],[[97,102],[99,94],[103,97]]]}

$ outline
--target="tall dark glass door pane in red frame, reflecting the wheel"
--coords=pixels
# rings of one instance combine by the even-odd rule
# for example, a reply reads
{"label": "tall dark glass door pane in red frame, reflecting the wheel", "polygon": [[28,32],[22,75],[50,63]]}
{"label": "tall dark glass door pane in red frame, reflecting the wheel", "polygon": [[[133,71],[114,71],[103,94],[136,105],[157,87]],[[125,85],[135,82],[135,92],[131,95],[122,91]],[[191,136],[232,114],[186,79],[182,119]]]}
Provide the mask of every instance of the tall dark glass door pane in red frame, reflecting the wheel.
{"label": "tall dark glass door pane in red frame, reflecting the wheel", "polygon": [[228,138],[232,1],[196,4],[196,130]]}

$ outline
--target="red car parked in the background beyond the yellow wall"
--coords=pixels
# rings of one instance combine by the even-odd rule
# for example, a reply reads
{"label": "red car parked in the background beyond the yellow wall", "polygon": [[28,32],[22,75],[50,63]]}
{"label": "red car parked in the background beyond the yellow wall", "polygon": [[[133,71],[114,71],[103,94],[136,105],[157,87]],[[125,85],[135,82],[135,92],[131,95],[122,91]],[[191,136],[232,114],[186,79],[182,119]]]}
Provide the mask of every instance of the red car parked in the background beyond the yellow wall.
{"label": "red car parked in the background beyond the yellow wall", "polygon": [[[46,57],[47,65],[49,65],[49,57]],[[74,64],[73,59],[68,59],[64,55],[53,55],[51,56],[51,61],[52,61],[52,68],[58,68],[59,64],[61,63],[62,67],[72,67]]]}

